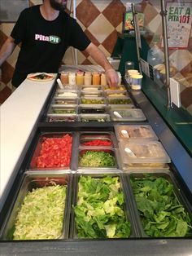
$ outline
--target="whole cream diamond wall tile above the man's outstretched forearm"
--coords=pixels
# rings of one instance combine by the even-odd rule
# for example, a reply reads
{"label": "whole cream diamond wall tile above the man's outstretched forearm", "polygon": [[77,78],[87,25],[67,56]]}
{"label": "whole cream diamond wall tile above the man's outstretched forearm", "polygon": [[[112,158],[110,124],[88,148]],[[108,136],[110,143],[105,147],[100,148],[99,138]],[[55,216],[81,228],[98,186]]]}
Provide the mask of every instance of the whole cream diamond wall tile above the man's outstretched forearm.
{"label": "whole cream diamond wall tile above the man's outstretched forearm", "polygon": [[103,16],[98,15],[92,24],[89,26],[89,31],[98,39],[98,42],[103,42],[107,36],[114,30],[111,23]]}

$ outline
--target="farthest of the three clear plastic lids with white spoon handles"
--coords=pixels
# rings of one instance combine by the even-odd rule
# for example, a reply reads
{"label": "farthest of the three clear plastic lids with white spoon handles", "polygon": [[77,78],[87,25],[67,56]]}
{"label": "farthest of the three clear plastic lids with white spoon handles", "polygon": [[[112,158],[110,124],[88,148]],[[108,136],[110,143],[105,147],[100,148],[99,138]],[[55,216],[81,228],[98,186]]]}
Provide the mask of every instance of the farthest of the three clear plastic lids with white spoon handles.
{"label": "farthest of the three clear plastic lids with white spoon handles", "polygon": [[145,121],[146,117],[140,108],[110,109],[112,121]]}

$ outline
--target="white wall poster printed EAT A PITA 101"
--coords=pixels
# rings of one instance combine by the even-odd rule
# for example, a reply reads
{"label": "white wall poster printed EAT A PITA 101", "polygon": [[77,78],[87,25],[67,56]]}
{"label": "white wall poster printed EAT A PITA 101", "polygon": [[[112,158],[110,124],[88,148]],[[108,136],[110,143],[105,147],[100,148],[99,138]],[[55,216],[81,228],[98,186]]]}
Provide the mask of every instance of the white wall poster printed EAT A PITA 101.
{"label": "white wall poster printed EAT A PITA 101", "polygon": [[168,47],[188,46],[192,23],[192,2],[167,2]]}

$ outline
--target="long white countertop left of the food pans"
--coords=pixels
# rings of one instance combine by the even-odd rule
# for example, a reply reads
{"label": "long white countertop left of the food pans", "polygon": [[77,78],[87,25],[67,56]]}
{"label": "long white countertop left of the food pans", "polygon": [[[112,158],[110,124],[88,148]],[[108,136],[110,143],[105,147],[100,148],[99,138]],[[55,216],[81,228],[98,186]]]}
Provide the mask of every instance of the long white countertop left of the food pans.
{"label": "long white countertop left of the food pans", "polygon": [[26,79],[0,107],[0,198],[54,82]]}

